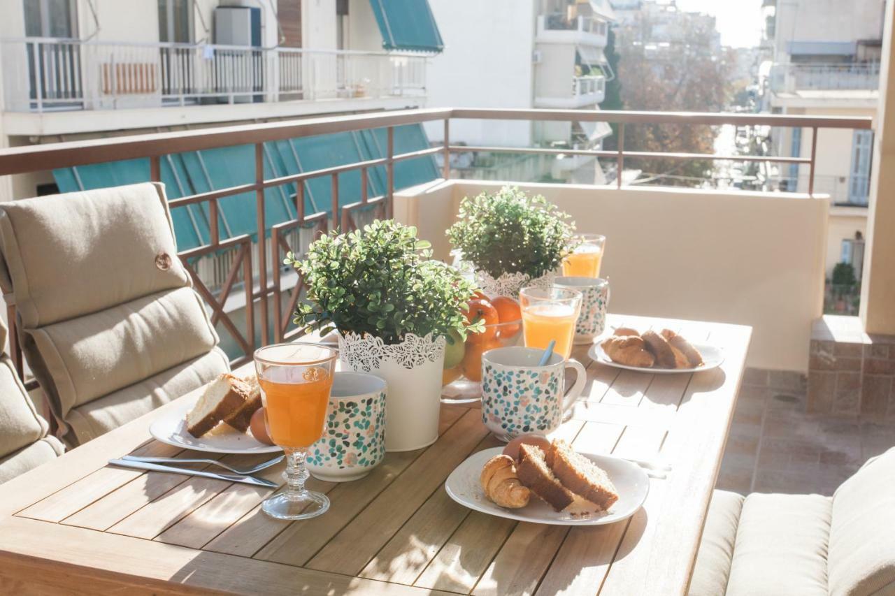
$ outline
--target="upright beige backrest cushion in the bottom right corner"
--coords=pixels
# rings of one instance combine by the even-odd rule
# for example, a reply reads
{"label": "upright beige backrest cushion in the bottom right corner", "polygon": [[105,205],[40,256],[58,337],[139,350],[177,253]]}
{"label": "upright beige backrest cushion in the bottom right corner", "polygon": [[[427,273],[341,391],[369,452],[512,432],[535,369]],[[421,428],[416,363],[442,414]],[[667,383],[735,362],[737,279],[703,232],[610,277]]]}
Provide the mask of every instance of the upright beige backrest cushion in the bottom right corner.
{"label": "upright beige backrest cushion in the bottom right corner", "polygon": [[895,594],[895,448],[833,494],[829,570],[833,595]]}

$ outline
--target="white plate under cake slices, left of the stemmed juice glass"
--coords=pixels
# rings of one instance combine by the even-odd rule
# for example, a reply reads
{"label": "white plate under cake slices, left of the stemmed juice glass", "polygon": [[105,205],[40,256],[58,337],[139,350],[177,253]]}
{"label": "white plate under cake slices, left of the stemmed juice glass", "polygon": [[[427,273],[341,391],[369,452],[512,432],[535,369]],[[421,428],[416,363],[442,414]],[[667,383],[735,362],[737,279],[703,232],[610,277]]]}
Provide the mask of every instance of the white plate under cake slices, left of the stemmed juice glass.
{"label": "white plate under cake slices, left of the stemmed juice glass", "polygon": [[169,410],[149,426],[149,434],[162,443],[211,453],[277,453],[282,451],[276,445],[267,445],[255,440],[251,434],[238,432],[222,424],[203,437],[193,437],[186,430],[186,413],[192,404]]}

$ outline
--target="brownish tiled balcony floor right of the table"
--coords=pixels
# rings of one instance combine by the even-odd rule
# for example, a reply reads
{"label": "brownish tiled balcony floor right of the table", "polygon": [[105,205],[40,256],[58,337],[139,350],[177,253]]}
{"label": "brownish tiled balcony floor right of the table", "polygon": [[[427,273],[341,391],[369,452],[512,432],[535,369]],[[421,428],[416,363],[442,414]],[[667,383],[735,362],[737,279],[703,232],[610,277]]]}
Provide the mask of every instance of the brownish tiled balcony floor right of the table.
{"label": "brownish tiled balcony floor right of the table", "polygon": [[893,446],[895,419],[808,414],[804,377],[746,370],[717,487],[831,495]]}

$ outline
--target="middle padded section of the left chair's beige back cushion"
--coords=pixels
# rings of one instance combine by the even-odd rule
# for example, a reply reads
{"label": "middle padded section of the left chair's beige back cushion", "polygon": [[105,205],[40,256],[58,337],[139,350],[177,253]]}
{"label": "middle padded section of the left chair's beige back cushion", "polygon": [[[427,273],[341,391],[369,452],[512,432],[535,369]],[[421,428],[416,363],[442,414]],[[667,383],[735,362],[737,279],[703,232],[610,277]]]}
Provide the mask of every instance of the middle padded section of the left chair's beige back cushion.
{"label": "middle padded section of the left chair's beige back cushion", "polygon": [[26,333],[67,417],[72,407],[209,353],[217,335],[202,308],[182,287]]}

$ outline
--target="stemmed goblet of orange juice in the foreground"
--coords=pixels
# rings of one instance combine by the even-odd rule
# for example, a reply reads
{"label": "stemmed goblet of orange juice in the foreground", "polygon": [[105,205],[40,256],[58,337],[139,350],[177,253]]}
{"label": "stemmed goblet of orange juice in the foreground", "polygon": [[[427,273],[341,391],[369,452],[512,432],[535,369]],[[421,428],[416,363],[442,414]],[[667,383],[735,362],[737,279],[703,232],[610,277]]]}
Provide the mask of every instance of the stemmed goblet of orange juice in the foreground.
{"label": "stemmed goblet of orange juice in the foreground", "polygon": [[286,453],[286,490],[261,505],[278,519],[306,519],[325,513],[326,495],[307,490],[304,458],[323,434],[337,352],[320,344],[275,344],[255,350],[255,370],[268,435]]}

